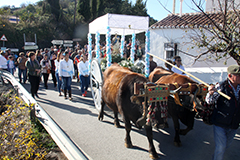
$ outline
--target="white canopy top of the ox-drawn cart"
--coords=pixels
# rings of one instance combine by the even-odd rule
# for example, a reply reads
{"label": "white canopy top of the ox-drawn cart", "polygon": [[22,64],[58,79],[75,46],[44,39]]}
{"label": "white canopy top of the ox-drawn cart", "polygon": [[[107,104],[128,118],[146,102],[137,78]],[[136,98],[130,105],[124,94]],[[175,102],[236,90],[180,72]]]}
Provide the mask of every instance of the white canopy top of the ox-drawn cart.
{"label": "white canopy top of the ox-drawn cart", "polygon": [[149,17],[107,13],[89,23],[89,33],[107,33],[107,26],[111,34],[130,35],[144,32],[149,27]]}

